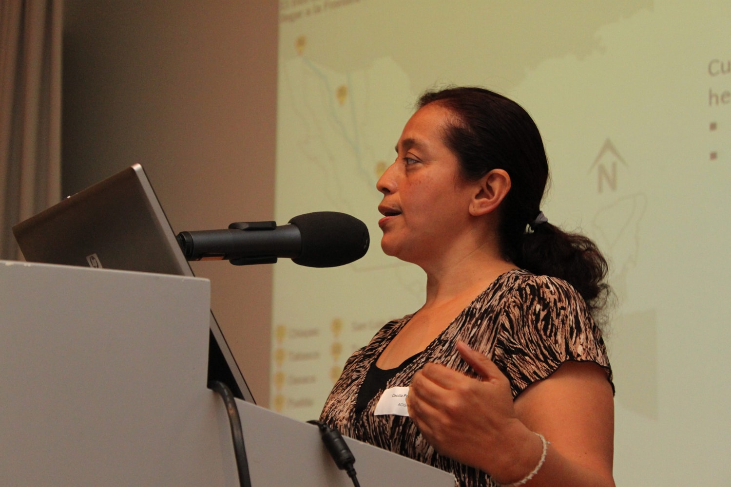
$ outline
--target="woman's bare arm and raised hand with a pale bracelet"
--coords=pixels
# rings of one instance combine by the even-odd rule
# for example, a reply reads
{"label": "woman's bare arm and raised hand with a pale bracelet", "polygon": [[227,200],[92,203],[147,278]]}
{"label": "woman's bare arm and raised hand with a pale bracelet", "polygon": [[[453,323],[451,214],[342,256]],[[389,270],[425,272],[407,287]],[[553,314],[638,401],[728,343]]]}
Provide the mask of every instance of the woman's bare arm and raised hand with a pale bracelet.
{"label": "woman's bare arm and raised hand with a pale bracelet", "polygon": [[513,402],[489,358],[463,343],[458,349],[482,380],[428,364],[409,393],[409,415],[439,453],[512,483],[542,456],[536,432],[550,445],[526,486],[614,486],[613,394],[601,367],[567,362]]}

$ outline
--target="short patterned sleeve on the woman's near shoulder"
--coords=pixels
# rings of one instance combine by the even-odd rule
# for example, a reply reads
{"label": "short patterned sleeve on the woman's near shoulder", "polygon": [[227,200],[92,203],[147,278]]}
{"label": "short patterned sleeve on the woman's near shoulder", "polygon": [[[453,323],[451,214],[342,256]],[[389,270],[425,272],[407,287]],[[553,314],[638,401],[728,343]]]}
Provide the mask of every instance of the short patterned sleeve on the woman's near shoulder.
{"label": "short patterned sleeve on the woman's near shoulder", "polygon": [[571,285],[532,275],[515,288],[496,342],[494,361],[510,379],[513,397],[567,361],[591,361],[612,371],[602,332]]}

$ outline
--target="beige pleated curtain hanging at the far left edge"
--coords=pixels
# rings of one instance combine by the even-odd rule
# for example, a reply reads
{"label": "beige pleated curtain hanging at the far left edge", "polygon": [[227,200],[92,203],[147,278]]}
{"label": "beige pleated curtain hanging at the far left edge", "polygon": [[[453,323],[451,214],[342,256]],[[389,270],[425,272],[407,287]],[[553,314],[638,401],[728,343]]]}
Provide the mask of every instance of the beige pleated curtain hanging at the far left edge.
{"label": "beige pleated curtain hanging at the far left edge", "polygon": [[61,199],[61,1],[0,0],[0,258]]}

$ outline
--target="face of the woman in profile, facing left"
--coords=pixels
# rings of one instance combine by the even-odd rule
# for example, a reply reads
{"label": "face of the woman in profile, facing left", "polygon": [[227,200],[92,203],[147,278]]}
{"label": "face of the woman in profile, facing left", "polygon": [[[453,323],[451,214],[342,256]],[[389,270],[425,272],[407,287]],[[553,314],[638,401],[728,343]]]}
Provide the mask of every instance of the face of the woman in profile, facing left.
{"label": "face of the woman in profile, facing left", "polygon": [[398,139],[396,160],[376,183],[383,193],[381,247],[389,256],[426,263],[469,231],[469,202],[478,185],[463,180],[457,156],[444,145],[450,115],[434,103],[414,113]]}

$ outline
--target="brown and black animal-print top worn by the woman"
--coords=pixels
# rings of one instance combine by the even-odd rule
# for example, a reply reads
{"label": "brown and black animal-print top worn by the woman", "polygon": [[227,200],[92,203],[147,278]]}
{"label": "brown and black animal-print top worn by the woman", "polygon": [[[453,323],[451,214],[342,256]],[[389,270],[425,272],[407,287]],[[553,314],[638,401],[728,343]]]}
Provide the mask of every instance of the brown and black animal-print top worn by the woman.
{"label": "brown and black animal-print top worn by the woman", "polygon": [[574,288],[563,280],[515,269],[491,283],[436,340],[388,380],[362,412],[356,413],[356,398],[368,369],[376,367],[377,358],[411,316],[387,323],[346,361],[320,421],[349,437],[452,472],[458,486],[498,484],[487,473],[436,453],[411,418],[374,415],[385,388],[409,386],[414,373],[428,362],[475,377],[455,348],[457,340],[495,362],[510,379],[514,398],[566,361],[596,362],[612,381],[601,331]]}

